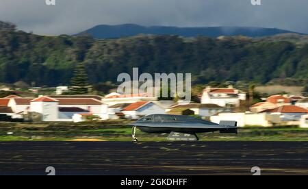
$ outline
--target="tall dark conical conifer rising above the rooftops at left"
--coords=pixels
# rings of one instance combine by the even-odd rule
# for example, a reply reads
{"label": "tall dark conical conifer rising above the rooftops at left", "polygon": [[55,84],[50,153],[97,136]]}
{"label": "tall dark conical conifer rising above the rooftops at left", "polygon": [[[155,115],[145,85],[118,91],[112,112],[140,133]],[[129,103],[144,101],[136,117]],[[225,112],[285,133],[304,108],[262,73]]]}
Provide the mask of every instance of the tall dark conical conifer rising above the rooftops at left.
{"label": "tall dark conical conifer rising above the rooftops at left", "polygon": [[84,64],[79,62],[74,70],[74,76],[70,81],[71,83],[71,93],[75,95],[87,94],[89,84],[88,84],[88,75],[84,68]]}

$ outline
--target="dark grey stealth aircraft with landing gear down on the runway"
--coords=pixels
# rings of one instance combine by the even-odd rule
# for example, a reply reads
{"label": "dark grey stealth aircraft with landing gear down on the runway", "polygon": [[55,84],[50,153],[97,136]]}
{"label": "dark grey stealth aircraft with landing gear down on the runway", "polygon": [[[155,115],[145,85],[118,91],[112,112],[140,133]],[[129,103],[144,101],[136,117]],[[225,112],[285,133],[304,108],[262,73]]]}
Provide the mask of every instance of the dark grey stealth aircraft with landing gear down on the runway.
{"label": "dark grey stealth aircraft with landing gear down on the runway", "polygon": [[150,134],[170,134],[169,140],[198,140],[197,133],[220,131],[220,133],[238,134],[236,121],[220,121],[220,124],[191,116],[155,114],[140,118],[133,126],[131,135],[136,138],[136,128]]}

